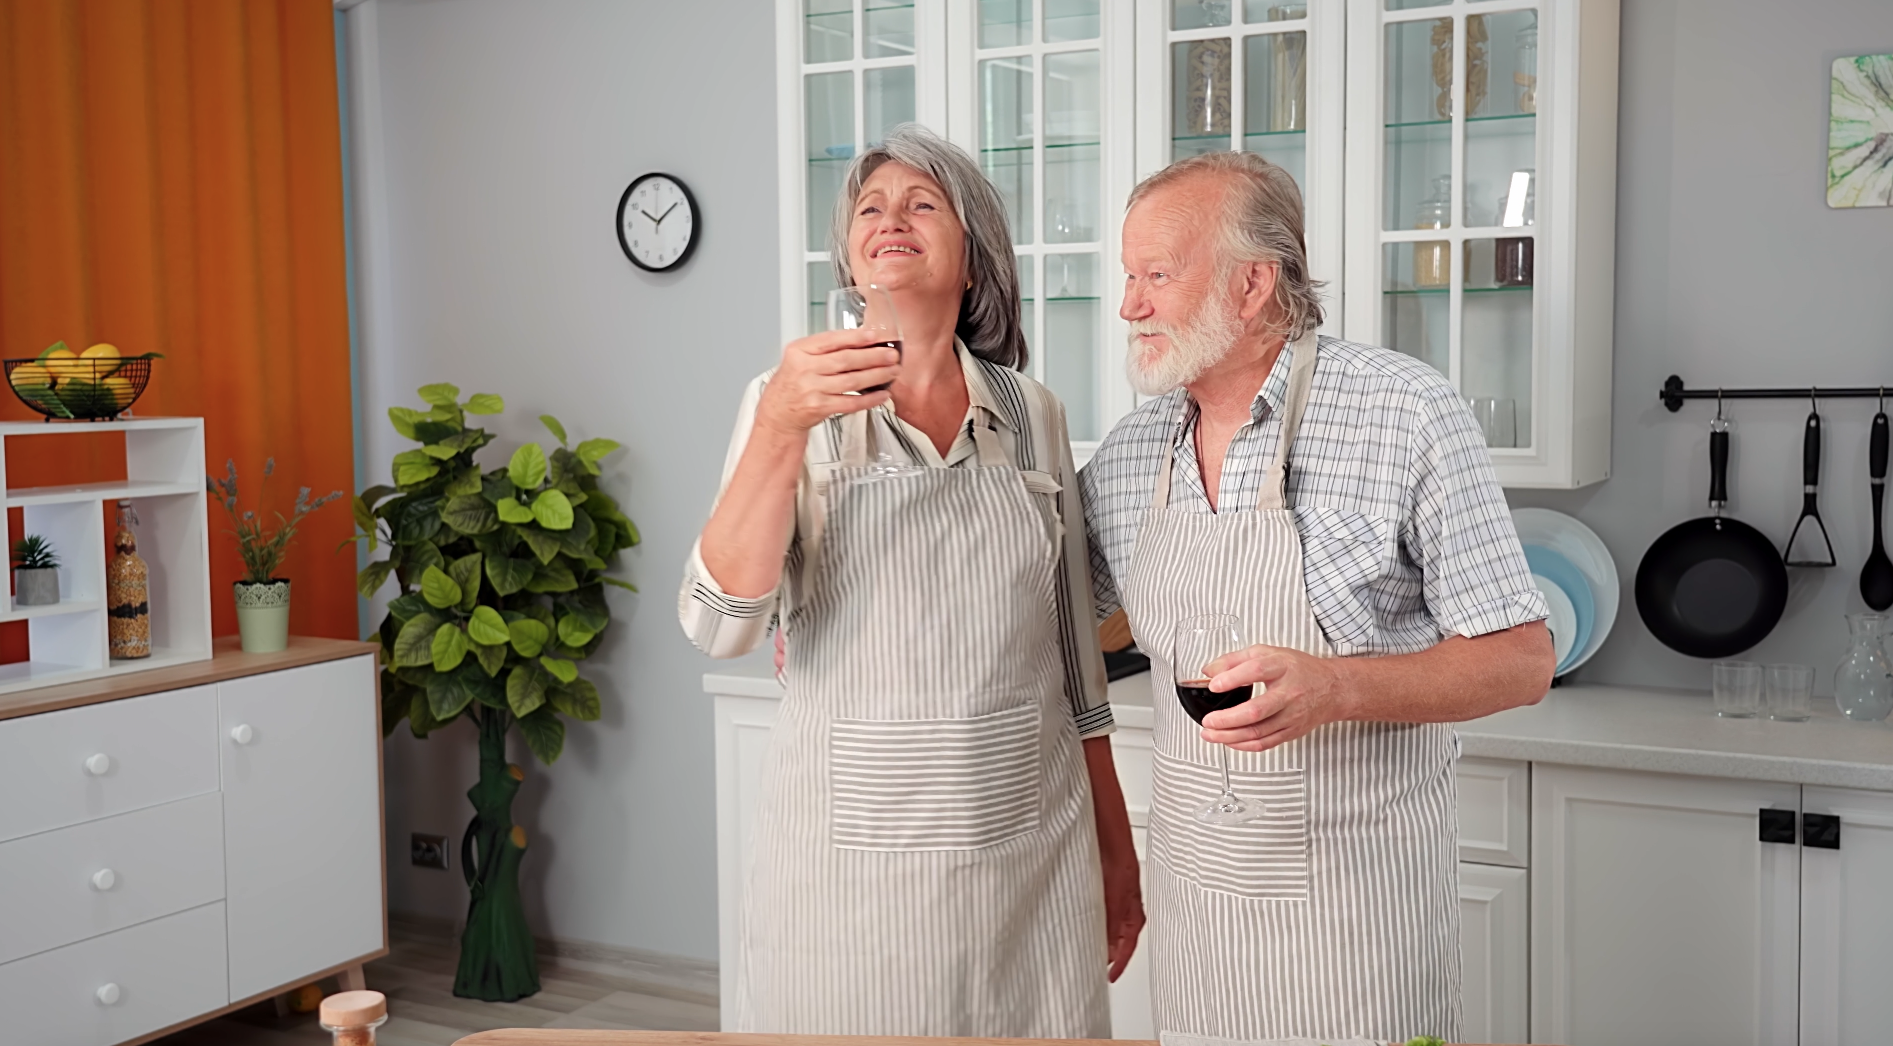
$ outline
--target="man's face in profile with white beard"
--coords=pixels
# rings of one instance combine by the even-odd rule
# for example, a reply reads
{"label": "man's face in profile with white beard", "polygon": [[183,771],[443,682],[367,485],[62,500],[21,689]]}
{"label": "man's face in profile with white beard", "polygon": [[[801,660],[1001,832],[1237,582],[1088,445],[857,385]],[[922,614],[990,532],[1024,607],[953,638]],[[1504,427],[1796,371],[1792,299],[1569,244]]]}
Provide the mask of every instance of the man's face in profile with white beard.
{"label": "man's face in profile with white beard", "polygon": [[1215,250],[1221,187],[1191,178],[1138,200],[1124,216],[1124,305],[1130,384],[1162,395],[1194,382],[1242,337],[1234,272]]}

